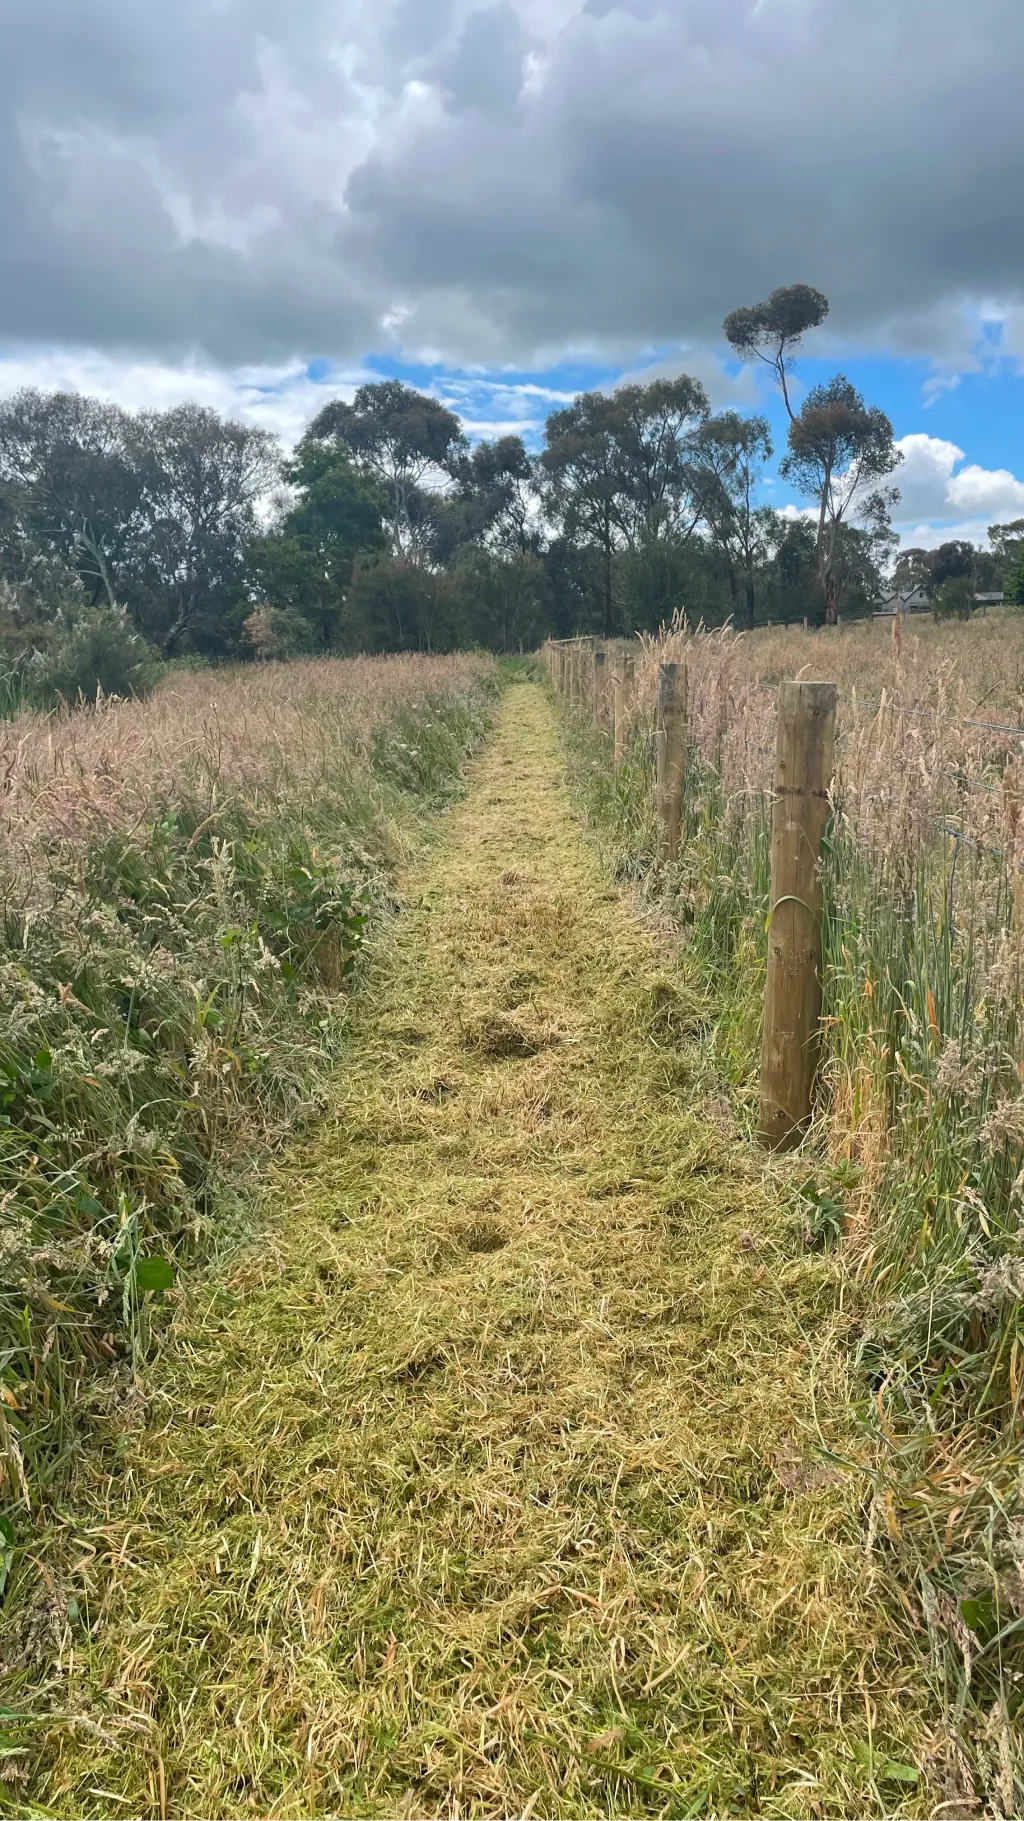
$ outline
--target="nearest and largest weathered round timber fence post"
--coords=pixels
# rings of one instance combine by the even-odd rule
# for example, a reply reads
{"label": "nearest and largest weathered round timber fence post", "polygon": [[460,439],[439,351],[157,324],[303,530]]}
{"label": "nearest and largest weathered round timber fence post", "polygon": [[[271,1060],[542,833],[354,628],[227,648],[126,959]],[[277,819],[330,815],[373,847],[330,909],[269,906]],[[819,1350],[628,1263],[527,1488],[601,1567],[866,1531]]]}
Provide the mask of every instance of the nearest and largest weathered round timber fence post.
{"label": "nearest and largest weathered round timber fence post", "polygon": [[835,683],[783,683],[771,823],[762,1142],[793,1151],[811,1120],[822,1023],[822,838],[836,759]]}

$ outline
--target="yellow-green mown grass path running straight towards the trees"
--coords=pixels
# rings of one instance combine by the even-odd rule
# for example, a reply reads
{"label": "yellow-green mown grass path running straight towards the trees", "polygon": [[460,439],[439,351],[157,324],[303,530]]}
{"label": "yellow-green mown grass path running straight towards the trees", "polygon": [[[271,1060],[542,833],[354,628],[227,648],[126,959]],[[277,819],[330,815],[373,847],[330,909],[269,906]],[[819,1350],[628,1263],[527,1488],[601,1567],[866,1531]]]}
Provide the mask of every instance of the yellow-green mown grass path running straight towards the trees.
{"label": "yellow-green mown grass path running straight towards the trees", "polygon": [[78,1519],[60,1816],[918,1814],[833,1275],[512,688],[266,1240]]}

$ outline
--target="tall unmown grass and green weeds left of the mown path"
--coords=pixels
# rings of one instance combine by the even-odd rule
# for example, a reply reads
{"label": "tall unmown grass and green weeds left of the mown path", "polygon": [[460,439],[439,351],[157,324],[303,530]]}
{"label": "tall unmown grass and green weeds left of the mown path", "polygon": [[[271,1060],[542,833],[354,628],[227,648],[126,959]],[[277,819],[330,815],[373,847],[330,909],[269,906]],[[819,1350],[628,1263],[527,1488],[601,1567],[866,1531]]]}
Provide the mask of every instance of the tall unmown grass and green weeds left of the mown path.
{"label": "tall unmown grass and green weeds left of the mown path", "polygon": [[368,918],[494,692],[483,659],[324,661],[0,734],[7,1546],[323,1105]]}

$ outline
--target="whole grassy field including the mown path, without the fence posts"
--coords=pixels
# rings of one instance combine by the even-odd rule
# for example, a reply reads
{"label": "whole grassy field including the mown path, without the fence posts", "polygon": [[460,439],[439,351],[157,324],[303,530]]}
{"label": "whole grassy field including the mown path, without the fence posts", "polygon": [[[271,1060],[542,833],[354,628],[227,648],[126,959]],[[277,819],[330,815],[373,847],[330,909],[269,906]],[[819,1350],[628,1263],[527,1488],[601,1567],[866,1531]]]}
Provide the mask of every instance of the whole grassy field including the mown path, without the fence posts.
{"label": "whole grassy field including the mown path, without the fence posts", "polygon": [[[840,743],[776,1162],[798,674]],[[297,663],[0,728],[0,1810],[1011,1816],[1024,625],[674,632],[618,776],[514,690],[410,870],[497,692]]]}

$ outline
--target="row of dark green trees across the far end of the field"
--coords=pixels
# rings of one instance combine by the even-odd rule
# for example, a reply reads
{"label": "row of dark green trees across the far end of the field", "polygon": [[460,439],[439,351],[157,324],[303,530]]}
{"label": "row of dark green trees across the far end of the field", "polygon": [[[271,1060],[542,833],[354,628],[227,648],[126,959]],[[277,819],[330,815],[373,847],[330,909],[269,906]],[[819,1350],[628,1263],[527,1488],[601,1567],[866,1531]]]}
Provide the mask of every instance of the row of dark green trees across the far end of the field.
{"label": "row of dark green trees across the far end of the field", "polygon": [[[516,650],[680,610],[709,626],[867,612],[893,570],[900,453],[842,375],[793,410],[794,350],[825,313],[798,284],[725,322],[780,386],[780,472],[805,515],[762,501],[767,419],[712,413],[685,375],[583,393],[538,453],[516,435],[470,446],[397,381],[326,404],[290,457],[199,404],[22,392],[0,404],[7,668],[44,690],[124,690],[188,654]],[[931,559],[911,555],[924,575]]]}

